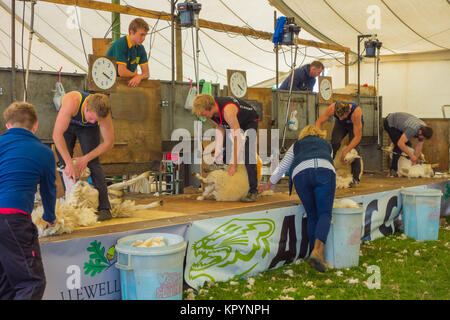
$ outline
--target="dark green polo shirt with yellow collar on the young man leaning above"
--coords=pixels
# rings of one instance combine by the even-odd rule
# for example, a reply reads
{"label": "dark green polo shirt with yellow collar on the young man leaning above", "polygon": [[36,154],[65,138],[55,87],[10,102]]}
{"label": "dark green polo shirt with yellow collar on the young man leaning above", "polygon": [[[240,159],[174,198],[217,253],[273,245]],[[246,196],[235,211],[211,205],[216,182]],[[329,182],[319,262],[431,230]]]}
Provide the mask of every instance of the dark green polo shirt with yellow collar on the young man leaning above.
{"label": "dark green polo shirt with yellow collar on the young man leaning above", "polygon": [[114,57],[117,64],[123,64],[131,72],[135,72],[137,65],[148,64],[147,53],[143,45],[133,46],[130,36],[123,36],[114,41],[106,53],[108,57]]}

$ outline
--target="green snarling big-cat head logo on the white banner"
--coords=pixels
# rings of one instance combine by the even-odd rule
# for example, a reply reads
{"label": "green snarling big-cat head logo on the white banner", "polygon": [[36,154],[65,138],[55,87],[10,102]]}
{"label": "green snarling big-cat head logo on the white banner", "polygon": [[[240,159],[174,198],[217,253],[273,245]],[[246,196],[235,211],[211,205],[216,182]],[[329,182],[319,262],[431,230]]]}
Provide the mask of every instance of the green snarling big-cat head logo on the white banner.
{"label": "green snarling big-cat head logo on the white banner", "polygon": [[[207,277],[221,268],[239,264],[244,272],[233,279],[239,279],[253,270],[270,252],[269,238],[275,231],[270,219],[232,219],[216,228],[211,234],[192,244],[195,262],[189,269],[191,280]],[[217,271],[219,269],[219,271]]]}

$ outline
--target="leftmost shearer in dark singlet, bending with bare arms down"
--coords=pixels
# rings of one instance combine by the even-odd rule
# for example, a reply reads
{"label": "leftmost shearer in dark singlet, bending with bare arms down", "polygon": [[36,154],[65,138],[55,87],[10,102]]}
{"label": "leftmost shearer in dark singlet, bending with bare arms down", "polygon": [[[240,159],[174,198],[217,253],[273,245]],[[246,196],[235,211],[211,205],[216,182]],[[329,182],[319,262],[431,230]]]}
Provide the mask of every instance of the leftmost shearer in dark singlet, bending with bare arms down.
{"label": "leftmost shearer in dark singlet, bending with bare arms down", "polygon": [[[101,143],[100,135],[103,138]],[[72,159],[77,139],[83,156]],[[65,164],[65,174],[74,182],[86,166],[90,169],[92,184],[98,190],[98,220],[111,219],[108,189],[99,160],[99,156],[114,145],[114,126],[109,98],[101,93],[89,94],[83,91],[67,93],[56,117],[53,141],[59,160]],[[73,160],[76,160],[76,166]]]}

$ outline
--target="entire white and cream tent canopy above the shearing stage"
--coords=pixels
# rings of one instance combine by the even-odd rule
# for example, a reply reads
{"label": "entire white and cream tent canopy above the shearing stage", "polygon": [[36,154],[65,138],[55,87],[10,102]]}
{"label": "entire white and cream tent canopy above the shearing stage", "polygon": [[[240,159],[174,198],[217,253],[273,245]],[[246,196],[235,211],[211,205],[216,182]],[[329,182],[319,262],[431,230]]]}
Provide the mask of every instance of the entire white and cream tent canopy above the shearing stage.
{"label": "entire white and cream tent canopy above the shearing stage", "polygon": [[[111,3],[110,1],[101,1]],[[273,33],[274,11],[277,16],[295,16],[302,25],[299,37],[349,47],[356,52],[357,35],[376,33],[383,42],[382,53],[407,53],[450,48],[450,5],[445,0],[199,0],[200,18],[227,25],[251,27]],[[22,41],[22,15],[25,3],[25,28]],[[272,4],[272,5],[271,5]],[[169,0],[121,0],[121,5],[170,12]],[[379,9],[380,29],[370,29],[370,6]],[[29,2],[16,1],[16,65],[26,65],[28,54]],[[373,9],[373,7],[371,7]],[[31,48],[32,70],[85,73],[86,55],[92,53],[92,38],[111,37],[111,13],[38,1],[35,6],[35,36]],[[0,67],[11,66],[11,1],[0,0]],[[373,12],[373,11],[371,11]],[[376,13],[376,12],[375,12]],[[372,15],[373,17],[373,15]],[[128,33],[134,16],[121,15],[121,33]],[[168,21],[144,18],[151,35],[144,46],[150,54],[150,78],[171,79],[170,24]],[[182,31],[184,80],[195,78],[192,28]],[[232,33],[202,28],[200,39],[200,78],[226,84],[226,70],[247,72],[249,85],[275,75],[273,43]],[[84,50],[83,50],[84,45]],[[150,49],[151,48],[151,49]],[[299,47],[296,65],[316,58],[340,57],[341,54]],[[279,71],[289,71],[292,63],[289,48],[279,53]],[[194,79],[195,80],[195,79]]]}

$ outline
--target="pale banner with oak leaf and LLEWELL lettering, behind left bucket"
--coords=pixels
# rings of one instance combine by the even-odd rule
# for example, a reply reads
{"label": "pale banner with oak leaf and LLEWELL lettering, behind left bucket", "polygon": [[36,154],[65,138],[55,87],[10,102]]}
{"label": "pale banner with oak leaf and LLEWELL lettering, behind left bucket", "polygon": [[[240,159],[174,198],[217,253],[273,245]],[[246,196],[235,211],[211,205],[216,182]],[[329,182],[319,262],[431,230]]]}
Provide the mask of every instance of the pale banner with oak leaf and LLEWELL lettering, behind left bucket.
{"label": "pale banner with oak leaf and LLEWELL lettering, behind left bucket", "polygon": [[120,300],[117,240],[138,233],[172,233],[187,240],[189,225],[135,230],[90,238],[41,243],[47,280],[43,299]]}

